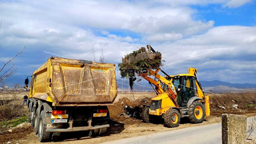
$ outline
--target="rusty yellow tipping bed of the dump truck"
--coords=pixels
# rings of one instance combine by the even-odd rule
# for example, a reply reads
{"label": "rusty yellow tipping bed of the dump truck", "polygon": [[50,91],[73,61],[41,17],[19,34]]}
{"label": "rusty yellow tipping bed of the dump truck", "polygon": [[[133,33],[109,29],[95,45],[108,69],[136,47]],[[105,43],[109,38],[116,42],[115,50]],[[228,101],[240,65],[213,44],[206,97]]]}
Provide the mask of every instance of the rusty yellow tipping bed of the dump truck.
{"label": "rusty yellow tipping bed of the dump truck", "polygon": [[51,57],[33,76],[31,97],[54,106],[111,105],[117,96],[115,64]]}

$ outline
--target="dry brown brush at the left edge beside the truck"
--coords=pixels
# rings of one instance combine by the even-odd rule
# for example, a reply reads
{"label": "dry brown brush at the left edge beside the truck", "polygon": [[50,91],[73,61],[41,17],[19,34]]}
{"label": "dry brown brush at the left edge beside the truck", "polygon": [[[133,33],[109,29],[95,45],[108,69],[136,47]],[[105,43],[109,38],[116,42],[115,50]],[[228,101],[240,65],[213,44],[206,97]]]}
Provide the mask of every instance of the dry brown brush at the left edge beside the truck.
{"label": "dry brown brush at the left edge beside the truck", "polygon": [[19,93],[1,95],[0,101],[1,119],[12,119],[26,115]]}

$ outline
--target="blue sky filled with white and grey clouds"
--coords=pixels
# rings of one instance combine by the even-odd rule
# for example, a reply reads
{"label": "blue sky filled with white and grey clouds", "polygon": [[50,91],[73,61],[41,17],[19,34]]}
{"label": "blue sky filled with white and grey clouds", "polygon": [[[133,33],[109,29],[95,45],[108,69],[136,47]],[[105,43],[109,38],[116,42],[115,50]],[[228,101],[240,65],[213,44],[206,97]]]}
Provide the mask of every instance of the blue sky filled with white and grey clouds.
{"label": "blue sky filled with white and grey clouds", "polygon": [[[0,61],[26,78],[51,56],[109,63],[150,44],[169,75],[256,84],[255,0],[0,1]],[[53,54],[56,55],[53,55]],[[0,64],[2,66],[2,63]],[[120,79],[118,68],[116,77]]]}

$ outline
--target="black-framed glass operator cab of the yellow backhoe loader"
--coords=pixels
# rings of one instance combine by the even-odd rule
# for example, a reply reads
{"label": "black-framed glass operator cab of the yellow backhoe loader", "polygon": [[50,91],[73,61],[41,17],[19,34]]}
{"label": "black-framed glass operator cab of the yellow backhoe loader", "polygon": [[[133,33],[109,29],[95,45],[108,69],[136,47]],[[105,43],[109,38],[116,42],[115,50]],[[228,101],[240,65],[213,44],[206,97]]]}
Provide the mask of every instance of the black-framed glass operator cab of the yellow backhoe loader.
{"label": "black-framed glass operator cab of the yellow backhoe loader", "polygon": [[188,100],[196,96],[196,80],[194,76],[174,76],[172,83],[177,92],[177,102],[180,107],[187,106]]}

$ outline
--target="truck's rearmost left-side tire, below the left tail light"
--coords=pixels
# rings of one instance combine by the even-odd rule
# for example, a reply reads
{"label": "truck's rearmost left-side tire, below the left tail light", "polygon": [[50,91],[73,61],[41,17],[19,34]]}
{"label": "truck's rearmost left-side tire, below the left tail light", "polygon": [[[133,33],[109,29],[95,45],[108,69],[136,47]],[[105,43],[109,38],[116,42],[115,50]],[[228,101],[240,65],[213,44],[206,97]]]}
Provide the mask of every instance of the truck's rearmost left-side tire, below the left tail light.
{"label": "truck's rearmost left-side tire, below the left tail light", "polygon": [[50,139],[50,132],[46,132],[44,110],[41,111],[38,121],[38,139],[39,142],[46,142]]}

